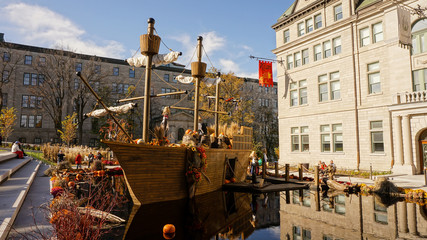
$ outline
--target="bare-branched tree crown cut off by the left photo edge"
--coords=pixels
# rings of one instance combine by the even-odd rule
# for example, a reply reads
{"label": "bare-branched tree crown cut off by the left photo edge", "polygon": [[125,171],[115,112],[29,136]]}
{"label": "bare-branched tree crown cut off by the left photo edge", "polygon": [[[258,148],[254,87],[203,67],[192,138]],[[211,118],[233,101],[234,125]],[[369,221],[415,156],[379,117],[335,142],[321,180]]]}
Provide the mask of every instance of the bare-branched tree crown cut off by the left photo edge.
{"label": "bare-branched tree crown cut off by the left photo edge", "polygon": [[0,110],[3,107],[3,90],[10,82],[15,80],[15,71],[23,56],[17,51],[13,52],[11,44],[0,41]]}

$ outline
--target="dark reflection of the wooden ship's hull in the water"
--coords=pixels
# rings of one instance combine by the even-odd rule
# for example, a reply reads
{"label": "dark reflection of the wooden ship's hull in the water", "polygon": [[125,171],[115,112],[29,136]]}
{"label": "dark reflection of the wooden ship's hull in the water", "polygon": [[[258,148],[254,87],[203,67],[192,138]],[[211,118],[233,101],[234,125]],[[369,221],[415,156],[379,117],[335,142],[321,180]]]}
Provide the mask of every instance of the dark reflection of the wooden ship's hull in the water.
{"label": "dark reflection of the wooden ship's hull in the water", "polygon": [[164,239],[165,224],[176,228],[174,239],[246,239],[253,233],[251,197],[216,191],[193,199],[143,204],[127,226],[125,239]]}

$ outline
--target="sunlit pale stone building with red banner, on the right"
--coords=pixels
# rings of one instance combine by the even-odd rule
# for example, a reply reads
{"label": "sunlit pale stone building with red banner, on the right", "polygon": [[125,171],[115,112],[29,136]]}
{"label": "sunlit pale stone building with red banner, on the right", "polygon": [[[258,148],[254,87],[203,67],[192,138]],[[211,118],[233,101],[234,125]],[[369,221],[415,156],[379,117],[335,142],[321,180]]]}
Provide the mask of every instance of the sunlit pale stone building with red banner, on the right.
{"label": "sunlit pale stone building with red banner, on the right", "polygon": [[427,1],[297,0],[280,16],[282,163],[422,172],[427,27],[418,5]]}

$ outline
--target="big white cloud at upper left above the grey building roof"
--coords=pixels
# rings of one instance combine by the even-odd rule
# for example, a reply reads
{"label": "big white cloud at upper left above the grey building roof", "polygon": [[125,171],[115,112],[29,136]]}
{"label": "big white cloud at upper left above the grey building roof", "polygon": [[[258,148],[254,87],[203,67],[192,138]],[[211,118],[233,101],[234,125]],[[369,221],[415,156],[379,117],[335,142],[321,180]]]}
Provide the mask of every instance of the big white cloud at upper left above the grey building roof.
{"label": "big white cloud at upper left above the grey building roof", "polygon": [[[8,31],[24,44],[68,50],[104,57],[122,58],[124,47],[107,40],[99,45],[84,38],[85,31],[66,17],[48,8],[25,3],[9,4],[0,9]],[[6,33],[7,36],[8,33]]]}

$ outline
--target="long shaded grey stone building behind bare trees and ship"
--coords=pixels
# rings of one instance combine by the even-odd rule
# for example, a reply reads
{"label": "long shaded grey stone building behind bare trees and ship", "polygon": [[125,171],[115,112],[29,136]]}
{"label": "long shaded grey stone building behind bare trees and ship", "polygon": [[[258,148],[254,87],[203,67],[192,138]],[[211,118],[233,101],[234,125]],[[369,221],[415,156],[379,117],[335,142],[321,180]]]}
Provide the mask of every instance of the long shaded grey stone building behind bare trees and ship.
{"label": "long shaded grey stone building behind bare trees and ship", "polygon": [[[5,42],[3,36],[3,34],[0,35],[0,66],[3,66],[0,71],[3,73],[4,79],[1,87],[3,107],[15,107],[17,110],[17,125],[8,141],[20,140],[31,144],[60,141],[55,132],[52,118],[45,111],[45,107],[42,106],[42,102],[47,101],[47,98],[37,95],[34,91],[36,87],[47,87],[41,86],[45,78],[38,71],[38,67],[49,65],[47,59],[51,55],[62,54],[70,59],[72,58],[72,61],[68,63],[68,65],[71,65],[70,72],[82,71],[83,75],[92,74],[95,76],[90,81],[91,86],[109,104],[116,105],[117,100],[129,96],[144,95],[145,68],[143,67],[130,67],[123,59],[76,54],[68,51]],[[89,68],[92,68],[92,72],[88,70]],[[178,82],[175,77],[180,74],[190,76],[191,70],[178,63],[153,67],[152,95],[180,90],[187,90],[188,94],[152,98],[151,128],[155,125],[160,125],[162,109],[165,106],[193,108],[194,91],[192,90],[194,85]],[[78,111],[76,95],[79,89],[84,87],[77,76],[73,75],[71,79],[63,80],[63,82],[66,81],[70,86],[64,91],[62,119]],[[130,89],[133,87],[135,90],[132,92]],[[258,107],[269,107],[273,108],[274,112],[277,112],[276,84],[269,90],[264,87],[258,87],[257,79],[244,78],[242,90],[250,91],[250,95],[256,99],[253,105],[254,111]],[[101,108],[101,106],[96,105],[96,99],[91,94],[85,93],[85,97],[90,100],[84,106],[83,113],[88,113],[95,108]],[[142,135],[141,113],[143,112],[143,100],[135,102],[139,103],[137,110],[129,114],[127,120],[134,125],[131,128],[134,138],[140,138]],[[169,119],[169,139],[171,142],[179,142],[182,140],[185,130],[193,128],[192,111],[172,109],[171,115]],[[99,125],[100,123],[97,119],[88,118],[83,121],[83,145],[97,146],[99,144]]]}

